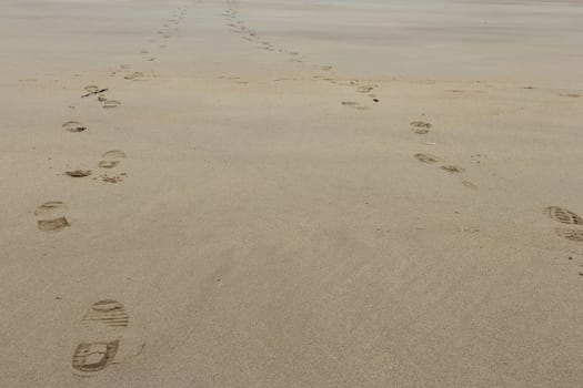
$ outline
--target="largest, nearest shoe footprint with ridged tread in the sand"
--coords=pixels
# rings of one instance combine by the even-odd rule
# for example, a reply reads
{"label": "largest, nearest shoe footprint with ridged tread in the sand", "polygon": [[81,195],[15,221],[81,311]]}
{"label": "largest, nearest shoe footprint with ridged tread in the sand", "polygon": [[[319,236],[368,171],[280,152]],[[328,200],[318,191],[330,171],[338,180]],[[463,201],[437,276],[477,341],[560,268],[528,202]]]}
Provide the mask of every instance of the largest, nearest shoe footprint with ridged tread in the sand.
{"label": "largest, nearest shoe footprint with ridged tread in the sand", "polygon": [[81,318],[82,338],[72,356],[72,372],[91,377],[114,364],[124,329],[130,321],[123,305],[103,299],[91,305]]}

